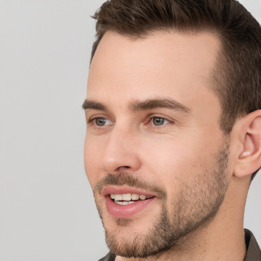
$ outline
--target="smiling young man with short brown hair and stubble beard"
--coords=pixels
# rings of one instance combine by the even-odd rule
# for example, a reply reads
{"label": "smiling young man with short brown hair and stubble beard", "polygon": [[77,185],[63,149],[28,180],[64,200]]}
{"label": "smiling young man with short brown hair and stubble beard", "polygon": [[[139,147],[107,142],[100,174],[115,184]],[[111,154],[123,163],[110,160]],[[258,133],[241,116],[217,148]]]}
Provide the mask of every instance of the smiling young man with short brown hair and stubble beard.
{"label": "smiling young man with short brown hair and stubble beard", "polygon": [[261,28],[234,0],[101,6],[83,104],[100,260],[261,260]]}

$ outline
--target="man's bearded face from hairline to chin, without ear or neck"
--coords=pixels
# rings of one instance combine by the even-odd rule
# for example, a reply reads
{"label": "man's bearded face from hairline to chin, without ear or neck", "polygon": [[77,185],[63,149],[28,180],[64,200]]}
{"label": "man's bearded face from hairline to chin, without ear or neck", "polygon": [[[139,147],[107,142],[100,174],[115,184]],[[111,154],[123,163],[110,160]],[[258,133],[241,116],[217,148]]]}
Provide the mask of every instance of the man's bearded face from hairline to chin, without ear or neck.
{"label": "man's bearded face from hairline to chin, without ear or neck", "polygon": [[112,252],[148,256],[215,216],[228,186],[228,141],[209,87],[219,41],[107,32],[85,102],[85,169]]}

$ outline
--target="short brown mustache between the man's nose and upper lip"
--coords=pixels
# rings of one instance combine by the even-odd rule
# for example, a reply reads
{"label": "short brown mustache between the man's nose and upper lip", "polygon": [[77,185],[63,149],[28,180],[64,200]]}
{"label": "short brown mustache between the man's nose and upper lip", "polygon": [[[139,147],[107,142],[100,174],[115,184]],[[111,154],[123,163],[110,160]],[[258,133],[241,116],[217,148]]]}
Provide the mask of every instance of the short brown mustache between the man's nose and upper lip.
{"label": "short brown mustache between the man's nose and upper lip", "polygon": [[163,187],[159,186],[155,182],[144,181],[140,178],[140,176],[127,172],[122,172],[119,174],[108,173],[105,177],[103,177],[97,182],[97,184],[94,187],[93,194],[99,193],[101,195],[103,188],[109,185],[126,185],[136,189],[147,190],[155,193],[156,197],[163,200],[166,200],[167,197],[167,192]]}

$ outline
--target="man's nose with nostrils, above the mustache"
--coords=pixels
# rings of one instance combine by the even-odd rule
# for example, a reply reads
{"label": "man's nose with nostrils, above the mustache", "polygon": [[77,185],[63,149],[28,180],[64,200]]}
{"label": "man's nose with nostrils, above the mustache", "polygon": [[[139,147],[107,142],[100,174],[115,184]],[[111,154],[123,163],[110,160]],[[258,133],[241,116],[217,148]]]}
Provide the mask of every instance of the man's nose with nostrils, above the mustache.
{"label": "man's nose with nostrils, above the mustache", "polygon": [[137,171],[141,167],[139,146],[134,132],[115,126],[108,136],[100,167],[111,174]]}

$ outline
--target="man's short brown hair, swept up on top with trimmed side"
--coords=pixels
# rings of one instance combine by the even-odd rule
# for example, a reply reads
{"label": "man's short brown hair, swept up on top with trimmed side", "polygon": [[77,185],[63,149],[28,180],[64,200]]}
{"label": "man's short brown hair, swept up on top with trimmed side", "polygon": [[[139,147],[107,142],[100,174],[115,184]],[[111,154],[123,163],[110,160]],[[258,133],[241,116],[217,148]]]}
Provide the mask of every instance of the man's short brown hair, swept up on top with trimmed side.
{"label": "man's short brown hair, swept up on top with trimmed side", "polygon": [[210,75],[225,134],[236,119],[261,109],[261,28],[236,0],[111,0],[93,16],[96,48],[106,31],[142,38],[156,31],[214,33],[220,54]]}

